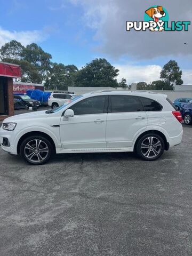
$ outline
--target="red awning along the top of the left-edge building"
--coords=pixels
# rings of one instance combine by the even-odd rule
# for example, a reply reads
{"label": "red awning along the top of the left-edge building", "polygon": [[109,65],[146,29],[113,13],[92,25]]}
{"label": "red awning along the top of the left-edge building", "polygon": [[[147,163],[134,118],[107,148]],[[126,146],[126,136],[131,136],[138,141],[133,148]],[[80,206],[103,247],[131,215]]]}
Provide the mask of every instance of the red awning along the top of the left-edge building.
{"label": "red awning along the top of the left-edge building", "polygon": [[21,68],[18,65],[0,62],[0,76],[20,78]]}

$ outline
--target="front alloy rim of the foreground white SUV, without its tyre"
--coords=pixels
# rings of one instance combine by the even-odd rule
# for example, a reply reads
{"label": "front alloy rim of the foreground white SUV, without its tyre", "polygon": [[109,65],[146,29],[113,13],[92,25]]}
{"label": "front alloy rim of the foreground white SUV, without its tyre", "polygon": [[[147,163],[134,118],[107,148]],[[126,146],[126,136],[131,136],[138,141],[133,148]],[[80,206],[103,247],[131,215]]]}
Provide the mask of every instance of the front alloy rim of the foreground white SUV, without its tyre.
{"label": "front alloy rim of the foreground white SUV, without its tyre", "polygon": [[30,140],[24,148],[26,158],[32,163],[41,163],[49,154],[49,148],[43,140]]}

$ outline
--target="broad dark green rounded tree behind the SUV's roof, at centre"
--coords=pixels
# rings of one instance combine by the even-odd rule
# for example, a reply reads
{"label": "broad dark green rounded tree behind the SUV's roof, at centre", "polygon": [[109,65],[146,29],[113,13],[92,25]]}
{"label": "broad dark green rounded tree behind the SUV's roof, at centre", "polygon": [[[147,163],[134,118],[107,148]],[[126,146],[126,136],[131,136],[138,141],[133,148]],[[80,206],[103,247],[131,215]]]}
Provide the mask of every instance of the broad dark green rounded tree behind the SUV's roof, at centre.
{"label": "broad dark green rounded tree behind the SUV's roof, at centre", "polygon": [[95,59],[77,72],[74,77],[75,85],[117,87],[118,72],[119,70],[111,66],[106,59]]}

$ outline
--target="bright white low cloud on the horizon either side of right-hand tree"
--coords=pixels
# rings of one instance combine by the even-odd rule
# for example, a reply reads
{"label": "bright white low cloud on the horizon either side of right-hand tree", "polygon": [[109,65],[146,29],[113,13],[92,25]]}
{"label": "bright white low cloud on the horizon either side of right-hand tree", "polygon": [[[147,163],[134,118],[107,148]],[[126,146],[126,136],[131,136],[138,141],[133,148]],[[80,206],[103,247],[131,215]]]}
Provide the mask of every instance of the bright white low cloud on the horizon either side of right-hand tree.
{"label": "bright white low cloud on the horizon either side of right-hand tree", "polygon": [[[118,65],[114,64],[119,69],[118,82],[124,77],[127,80],[127,84],[146,82],[150,83],[160,79],[161,66],[147,65],[147,66],[134,66],[134,65]],[[182,79],[184,84],[191,84],[192,69],[184,69],[182,72]]]}

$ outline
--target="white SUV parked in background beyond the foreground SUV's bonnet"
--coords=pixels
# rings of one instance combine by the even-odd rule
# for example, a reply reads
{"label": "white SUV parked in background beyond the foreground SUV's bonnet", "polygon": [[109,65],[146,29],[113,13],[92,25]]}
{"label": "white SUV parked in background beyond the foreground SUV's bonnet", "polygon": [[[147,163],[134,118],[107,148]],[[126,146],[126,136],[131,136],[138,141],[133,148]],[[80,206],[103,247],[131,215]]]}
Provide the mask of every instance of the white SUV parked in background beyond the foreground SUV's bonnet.
{"label": "white SUV parked in background beyond the foreground SUV's bonnet", "polygon": [[48,99],[48,105],[55,109],[62,106],[63,103],[66,103],[69,100],[73,100],[75,97],[77,97],[77,95],[74,94],[74,92],[54,91],[51,93]]}

